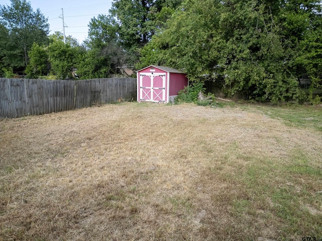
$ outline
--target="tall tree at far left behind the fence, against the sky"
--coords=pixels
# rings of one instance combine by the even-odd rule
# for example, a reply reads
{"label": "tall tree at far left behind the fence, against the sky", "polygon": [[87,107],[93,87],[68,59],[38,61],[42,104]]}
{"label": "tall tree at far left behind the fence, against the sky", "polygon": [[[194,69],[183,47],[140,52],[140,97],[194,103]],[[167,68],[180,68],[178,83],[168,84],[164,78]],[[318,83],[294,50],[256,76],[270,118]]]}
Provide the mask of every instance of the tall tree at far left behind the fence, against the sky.
{"label": "tall tree at far left behind the fence, against the sky", "polygon": [[14,67],[27,66],[28,51],[33,43],[44,44],[48,40],[47,18],[39,9],[33,11],[26,0],[11,0],[10,7],[0,5],[0,17],[0,23],[8,29],[13,45],[7,48],[8,59],[14,61],[19,58],[19,62],[14,61]]}

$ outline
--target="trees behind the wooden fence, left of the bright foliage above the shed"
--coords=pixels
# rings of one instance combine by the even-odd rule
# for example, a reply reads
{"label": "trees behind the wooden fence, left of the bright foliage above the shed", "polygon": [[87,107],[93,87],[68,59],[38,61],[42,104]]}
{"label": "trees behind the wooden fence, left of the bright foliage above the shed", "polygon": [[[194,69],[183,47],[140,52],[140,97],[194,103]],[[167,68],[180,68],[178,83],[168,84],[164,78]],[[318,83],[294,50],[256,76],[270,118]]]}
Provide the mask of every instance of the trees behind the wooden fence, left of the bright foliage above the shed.
{"label": "trees behind the wooden fence, left of the bright foliage above the shed", "polygon": [[28,78],[53,76],[102,78],[117,73],[117,67],[134,66],[143,48],[166,21],[166,9],[178,0],[114,1],[109,15],[91,19],[88,38],[81,44],[71,36],[66,43],[60,32],[49,35],[48,19],[34,11],[27,0],[0,5],[0,74],[24,73]]}

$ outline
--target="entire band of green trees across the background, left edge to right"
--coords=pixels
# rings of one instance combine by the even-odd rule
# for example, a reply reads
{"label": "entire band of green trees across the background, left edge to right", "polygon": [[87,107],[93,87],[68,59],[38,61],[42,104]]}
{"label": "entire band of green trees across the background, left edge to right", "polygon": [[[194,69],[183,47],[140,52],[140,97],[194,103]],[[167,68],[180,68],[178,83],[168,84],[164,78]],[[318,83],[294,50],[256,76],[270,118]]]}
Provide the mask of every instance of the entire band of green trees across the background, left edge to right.
{"label": "entire band of green trees across the background, left edge to right", "polygon": [[[0,72],[108,77],[118,66],[181,69],[192,82],[221,79],[226,94],[320,102],[322,13],[316,0],[114,0],[88,39],[63,42],[26,0],[0,6]],[[308,90],[300,79],[309,79]]]}

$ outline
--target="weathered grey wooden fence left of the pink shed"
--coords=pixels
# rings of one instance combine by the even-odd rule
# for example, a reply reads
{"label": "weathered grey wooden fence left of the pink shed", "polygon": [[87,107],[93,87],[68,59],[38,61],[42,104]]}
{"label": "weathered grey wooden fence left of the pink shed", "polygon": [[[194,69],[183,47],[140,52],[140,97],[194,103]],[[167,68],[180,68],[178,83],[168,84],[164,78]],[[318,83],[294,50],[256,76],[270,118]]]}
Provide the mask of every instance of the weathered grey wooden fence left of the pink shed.
{"label": "weathered grey wooden fence left of the pink shed", "polygon": [[44,80],[0,78],[0,117],[21,117],[136,99],[136,78]]}

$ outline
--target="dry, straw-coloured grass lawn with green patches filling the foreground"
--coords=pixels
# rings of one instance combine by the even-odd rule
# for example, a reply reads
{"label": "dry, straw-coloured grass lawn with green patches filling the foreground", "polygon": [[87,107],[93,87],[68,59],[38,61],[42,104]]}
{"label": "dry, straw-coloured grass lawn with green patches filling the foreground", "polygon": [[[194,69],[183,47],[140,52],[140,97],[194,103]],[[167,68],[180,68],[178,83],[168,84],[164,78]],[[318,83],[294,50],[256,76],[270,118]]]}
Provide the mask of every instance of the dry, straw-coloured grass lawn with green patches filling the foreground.
{"label": "dry, straw-coloured grass lawn with green patches filling the foreground", "polygon": [[321,134],[248,105],[3,119],[0,240],[317,240]]}

